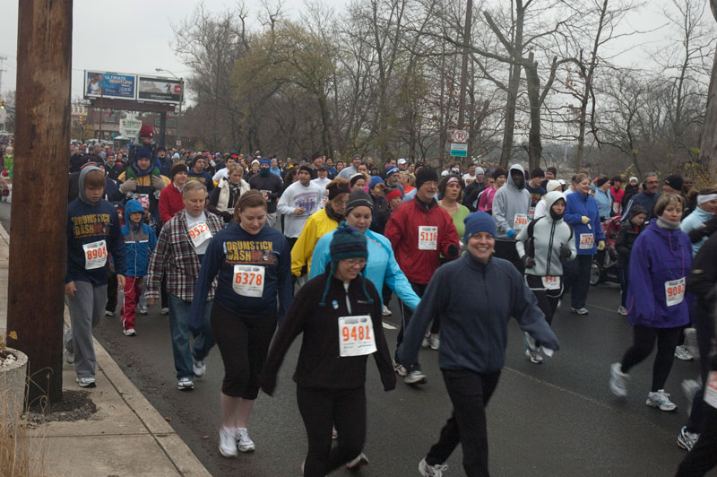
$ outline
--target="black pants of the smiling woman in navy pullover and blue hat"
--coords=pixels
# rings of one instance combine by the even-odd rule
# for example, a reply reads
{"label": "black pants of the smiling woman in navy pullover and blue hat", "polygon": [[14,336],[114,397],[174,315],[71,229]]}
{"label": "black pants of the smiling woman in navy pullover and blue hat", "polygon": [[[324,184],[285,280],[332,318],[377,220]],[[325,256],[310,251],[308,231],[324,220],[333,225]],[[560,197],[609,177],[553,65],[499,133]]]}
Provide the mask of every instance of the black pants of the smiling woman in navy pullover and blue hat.
{"label": "black pants of the smiling woman in navy pullover and blue hat", "polygon": [[441,429],[438,442],[426,455],[428,465],[444,464],[460,442],[467,477],[489,475],[486,405],[496,390],[498,377],[500,371],[479,374],[468,369],[443,370],[445,388],[454,411]]}

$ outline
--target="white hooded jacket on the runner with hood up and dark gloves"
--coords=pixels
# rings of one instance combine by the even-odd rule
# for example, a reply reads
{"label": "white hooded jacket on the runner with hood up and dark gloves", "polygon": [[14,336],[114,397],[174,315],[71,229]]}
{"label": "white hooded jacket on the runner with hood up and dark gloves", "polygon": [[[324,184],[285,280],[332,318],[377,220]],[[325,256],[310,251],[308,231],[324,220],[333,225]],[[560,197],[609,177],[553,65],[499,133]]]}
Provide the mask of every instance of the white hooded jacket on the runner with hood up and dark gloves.
{"label": "white hooded jacket on the runner with hood up and dark gloves", "polygon": [[[546,210],[548,213],[540,219],[535,219],[533,224],[532,237],[535,246],[535,265],[525,269],[525,274],[534,276],[561,276],[563,265],[560,262],[560,246],[566,245],[570,248],[570,256],[567,260],[574,260],[577,256],[575,241],[573,240],[573,229],[563,220],[563,217],[555,218],[552,206],[558,199],[563,199],[562,192],[549,192],[545,195]],[[564,212],[565,213],[565,212]],[[515,248],[518,255],[523,258],[527,253],[525,250],[528,240],[528,227],[521,230],[516,238]]]}

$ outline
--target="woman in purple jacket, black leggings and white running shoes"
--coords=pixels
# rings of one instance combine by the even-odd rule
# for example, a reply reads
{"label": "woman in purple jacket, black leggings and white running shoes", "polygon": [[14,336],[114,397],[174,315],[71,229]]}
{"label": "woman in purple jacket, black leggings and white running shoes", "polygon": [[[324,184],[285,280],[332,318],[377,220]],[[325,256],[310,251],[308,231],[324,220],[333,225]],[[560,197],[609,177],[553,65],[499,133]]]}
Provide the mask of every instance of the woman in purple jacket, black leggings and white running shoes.
{"label": "woman in purple jacket, black leggings and white running shoes", "polygon": [[689,322],[685,280],[692,267],[692,247],[687,234],[679,230],[685,199],[664,194],[655,204],[658,217],[637,239],[630,256],[627,288],[627,315],[633,325],[633,345],[622,362],[610,368],[610,391],[627,395],[627,372],[647,358],[657,341],[652,365],[652,389],[646,404],[662,411],[674,411],[664,387],[672,369],[679,334]]}

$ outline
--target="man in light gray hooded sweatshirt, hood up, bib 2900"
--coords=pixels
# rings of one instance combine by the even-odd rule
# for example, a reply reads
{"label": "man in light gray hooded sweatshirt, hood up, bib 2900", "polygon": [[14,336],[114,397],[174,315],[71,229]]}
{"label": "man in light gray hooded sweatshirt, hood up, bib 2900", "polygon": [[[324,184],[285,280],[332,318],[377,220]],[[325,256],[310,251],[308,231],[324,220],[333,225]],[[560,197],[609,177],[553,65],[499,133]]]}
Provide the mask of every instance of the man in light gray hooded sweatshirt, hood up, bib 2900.
{"label": "man in light gray hooded sweatshirt, hood up, bib 2900", "polygon": [[493,219],[496,221],[496,256],[523,271],[523,264],[515,250],[515,237],[528,227],[531,212],[531,193],[525,189],[525,171],[520,164],[508,170],[505,185],[493,197]]}

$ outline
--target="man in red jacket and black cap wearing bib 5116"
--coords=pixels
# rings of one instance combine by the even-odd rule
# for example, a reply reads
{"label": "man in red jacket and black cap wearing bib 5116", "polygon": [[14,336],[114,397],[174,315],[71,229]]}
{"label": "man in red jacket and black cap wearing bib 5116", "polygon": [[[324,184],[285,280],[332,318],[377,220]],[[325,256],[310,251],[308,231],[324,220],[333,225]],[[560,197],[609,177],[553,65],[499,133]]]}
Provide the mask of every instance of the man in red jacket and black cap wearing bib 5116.
{"label": "man in red jacket and black cap wearing bib 5116", "polygon": [[[399,206],[386,223],[384,235],[391,241],[396,261],[419,297],[441,265],[439,257],[447,260],[458,257],[458,232],[448,212],[438,206],[436,170],[424,167],[416,173],[416,196]],[[401,306],[402,324],[396,339],[396,349],[403,341],[403,330],[412,316],[410,309]],[[418,364],[404,368],[396,360],[394,368],[407,384],[422,382],[426,377]]]}

